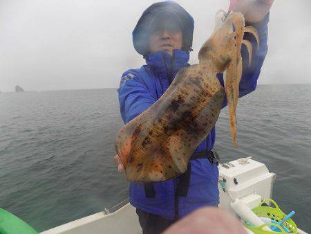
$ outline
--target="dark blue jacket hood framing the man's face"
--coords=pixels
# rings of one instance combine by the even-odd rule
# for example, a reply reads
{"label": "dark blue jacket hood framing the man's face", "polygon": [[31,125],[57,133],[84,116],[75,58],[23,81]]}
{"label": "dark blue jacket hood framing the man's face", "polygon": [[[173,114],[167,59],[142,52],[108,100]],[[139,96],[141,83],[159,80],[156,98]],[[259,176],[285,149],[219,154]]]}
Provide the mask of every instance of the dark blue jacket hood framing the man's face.
{"label": "dark blue jacket hood framing the man's face", "polygon": [[194,34],[194,19],[178,3],[173,1],[162,1],[153,3],[144,10],[133,30],[133,45],[135,50],[141,55],[149,53],[149,30],[151,23],[162,13],[168,13],[180,22],[182,28],[182,51],[192,51],[192,39]]}

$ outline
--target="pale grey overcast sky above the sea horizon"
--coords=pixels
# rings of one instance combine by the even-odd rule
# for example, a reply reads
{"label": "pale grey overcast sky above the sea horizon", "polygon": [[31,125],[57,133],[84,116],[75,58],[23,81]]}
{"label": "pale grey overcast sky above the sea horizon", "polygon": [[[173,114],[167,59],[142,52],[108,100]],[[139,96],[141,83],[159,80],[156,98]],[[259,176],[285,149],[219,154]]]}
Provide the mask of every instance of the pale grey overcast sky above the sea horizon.
{"label": "pale grey overcast sky above the sea horizon", "polygon": [[[154,1],[0,0],[0,90],[118,87],[138,68],[131,32]],[[194,51],[229,0],[177,1],[195,20]],[[269,52],[259,83],[311,83],[311,1],[276,0],[270,13]]]}

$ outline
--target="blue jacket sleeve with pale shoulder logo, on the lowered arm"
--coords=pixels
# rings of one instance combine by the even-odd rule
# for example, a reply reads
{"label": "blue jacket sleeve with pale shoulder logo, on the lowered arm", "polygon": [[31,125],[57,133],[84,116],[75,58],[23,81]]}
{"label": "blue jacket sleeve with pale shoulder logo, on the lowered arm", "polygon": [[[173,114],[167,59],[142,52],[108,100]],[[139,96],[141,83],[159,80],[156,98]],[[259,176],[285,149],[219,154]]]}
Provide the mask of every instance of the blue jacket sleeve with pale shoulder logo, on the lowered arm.
{"label": "blue jacket sleeve with pale shoulder logo, on the lowered arm", "polygon": [[153,97],[144,80],[131,70],[123,73],[117,91],[124,123],[128,123],[156,102],[156,98]]}

